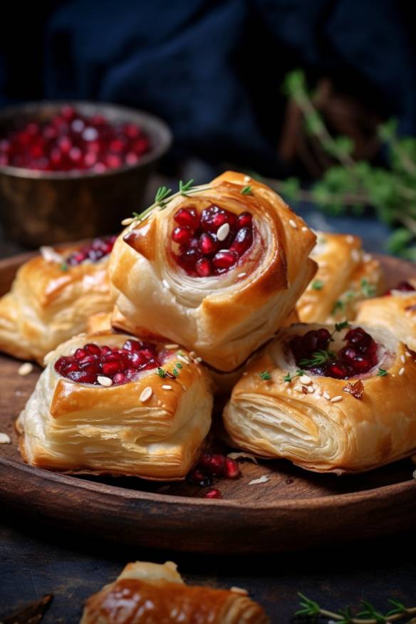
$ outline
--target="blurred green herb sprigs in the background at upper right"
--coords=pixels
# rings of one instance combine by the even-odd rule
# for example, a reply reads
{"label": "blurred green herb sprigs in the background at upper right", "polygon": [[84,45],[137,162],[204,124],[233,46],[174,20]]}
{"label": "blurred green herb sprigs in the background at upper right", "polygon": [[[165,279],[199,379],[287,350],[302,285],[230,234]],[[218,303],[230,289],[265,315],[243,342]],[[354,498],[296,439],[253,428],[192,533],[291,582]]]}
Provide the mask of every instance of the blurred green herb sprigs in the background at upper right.
{"label": "blurred green herb sprigs in the background at upper right", "polygon": [[346,207],[362,214],[365,206],[372,206],[380,221],[399,225],[388,241],[390,251],[416,261],[416,137],[398,137],[395,120],[380,125],[378,136],[388,150],[390,168],[375,167],[353,158],[349,137],[331,135],[313,104],[303,71],[286,76],[284,91],[303,113],[308,134],[335,162],[311,189],[301,189],[295,177],[266,182],[288,199],[313,201],[333,214]]}

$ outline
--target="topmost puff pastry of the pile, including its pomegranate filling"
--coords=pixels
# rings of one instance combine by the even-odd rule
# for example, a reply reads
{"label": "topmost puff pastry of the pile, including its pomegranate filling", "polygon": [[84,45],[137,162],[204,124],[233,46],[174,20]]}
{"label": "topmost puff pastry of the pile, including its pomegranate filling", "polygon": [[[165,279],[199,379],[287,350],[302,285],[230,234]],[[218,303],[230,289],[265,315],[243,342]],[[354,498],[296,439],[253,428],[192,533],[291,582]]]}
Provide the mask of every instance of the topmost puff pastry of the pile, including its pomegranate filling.
{"label": "topmost puff pastry of the pile, including its pomegranate filling", "polygon": [[226,172],[118,238],[114,324],[167,336],[231,372],[283,325],[316,271],[314,243],[279,195]]}

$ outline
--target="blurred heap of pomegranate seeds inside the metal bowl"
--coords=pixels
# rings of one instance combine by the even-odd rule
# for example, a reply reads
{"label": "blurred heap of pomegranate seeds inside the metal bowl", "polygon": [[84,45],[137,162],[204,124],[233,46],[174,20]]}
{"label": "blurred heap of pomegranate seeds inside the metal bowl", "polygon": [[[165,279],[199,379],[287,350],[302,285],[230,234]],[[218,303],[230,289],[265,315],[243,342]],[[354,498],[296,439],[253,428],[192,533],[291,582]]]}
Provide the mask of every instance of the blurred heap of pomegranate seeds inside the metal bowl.
{"label": "blurred heap of pomegranate seeds inside the metal bowl", "polygon": [[0,166],[100,173],[135,165],[150,148],[140,126],[110,124],[102,115],[87,117],[67,105],[46,122],[29,121],[0,137]]}

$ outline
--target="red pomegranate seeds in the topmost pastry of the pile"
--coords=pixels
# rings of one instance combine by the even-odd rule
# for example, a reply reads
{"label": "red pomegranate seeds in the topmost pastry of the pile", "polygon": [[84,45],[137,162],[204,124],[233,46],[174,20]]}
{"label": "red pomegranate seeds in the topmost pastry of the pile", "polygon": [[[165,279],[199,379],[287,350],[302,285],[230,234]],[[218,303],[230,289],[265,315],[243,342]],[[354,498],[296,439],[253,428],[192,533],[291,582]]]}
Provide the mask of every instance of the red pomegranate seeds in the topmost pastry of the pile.
{"label": "red pomegranate seeds in the topmost pastry of the pile", "polygon": [[179,245],[177,263],[194,277],[221,275],[237,264],[253,242],[253,218],[238,216],[218,206],[197,210],[180,208],[172,241]]}

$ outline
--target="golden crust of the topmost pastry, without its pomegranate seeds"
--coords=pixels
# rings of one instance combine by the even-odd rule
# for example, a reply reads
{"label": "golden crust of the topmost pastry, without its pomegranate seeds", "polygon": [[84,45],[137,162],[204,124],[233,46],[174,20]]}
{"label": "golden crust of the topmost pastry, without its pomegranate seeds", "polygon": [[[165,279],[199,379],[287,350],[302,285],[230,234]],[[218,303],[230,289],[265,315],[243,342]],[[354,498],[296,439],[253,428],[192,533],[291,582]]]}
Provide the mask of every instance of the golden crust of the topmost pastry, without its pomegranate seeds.
{"label": "golden crust of the topmost pastry, without its pomegranate seeds", "polygon": [[[226,372],[274,336],[316,271],[308,259],[315,236],[303,220],[260,182],[250,180],[251,194],[241,194],[246,184],[244,175],[226,172],[209,189],[173,199],[130,228],[135,249],[126,244],[126,233],[119,237],[109,269],[124,327],[166,336]],[[224,276],[191,278],[170,249],[172,214],[212,203],[236,214],[251,212],[254,244],[244,264]]]}

